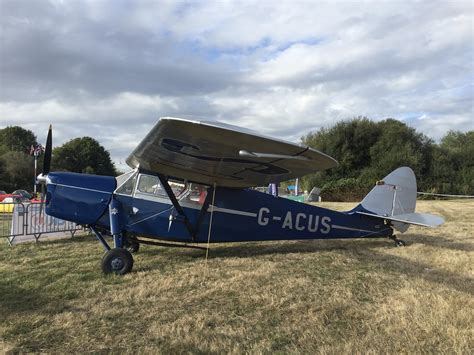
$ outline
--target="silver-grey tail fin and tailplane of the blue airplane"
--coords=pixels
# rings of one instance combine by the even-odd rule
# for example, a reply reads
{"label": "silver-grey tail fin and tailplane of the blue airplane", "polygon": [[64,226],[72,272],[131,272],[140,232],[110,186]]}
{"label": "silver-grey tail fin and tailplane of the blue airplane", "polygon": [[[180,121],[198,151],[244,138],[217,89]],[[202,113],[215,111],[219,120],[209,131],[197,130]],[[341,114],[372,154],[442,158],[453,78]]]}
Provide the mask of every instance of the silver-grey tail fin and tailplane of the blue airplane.
{"label": "silver-grey tail fin and tailplane of the blue airplane", "polygon": [[377,182],[354,211],[359,214],[383,218],[400,232],[410,224],[436,227],[444,219],[427,213],[415,213],[416,177],[413,170],[401,167]]}

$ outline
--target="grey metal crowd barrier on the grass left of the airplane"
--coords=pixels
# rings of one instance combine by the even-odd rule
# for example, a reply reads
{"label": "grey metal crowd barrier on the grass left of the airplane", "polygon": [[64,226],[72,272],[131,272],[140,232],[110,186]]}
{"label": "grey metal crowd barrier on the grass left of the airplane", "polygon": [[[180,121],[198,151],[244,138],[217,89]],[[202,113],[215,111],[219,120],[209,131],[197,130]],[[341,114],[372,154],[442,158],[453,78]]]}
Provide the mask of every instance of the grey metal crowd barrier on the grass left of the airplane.
{"label": "grey metal crowd barrier on the grass left of the airplane", "polygon": [[0,203],[0,238],[7,238],[10,245],[34,240],[41,236],[71,237],[82,226],[40,213],[39,203]]}

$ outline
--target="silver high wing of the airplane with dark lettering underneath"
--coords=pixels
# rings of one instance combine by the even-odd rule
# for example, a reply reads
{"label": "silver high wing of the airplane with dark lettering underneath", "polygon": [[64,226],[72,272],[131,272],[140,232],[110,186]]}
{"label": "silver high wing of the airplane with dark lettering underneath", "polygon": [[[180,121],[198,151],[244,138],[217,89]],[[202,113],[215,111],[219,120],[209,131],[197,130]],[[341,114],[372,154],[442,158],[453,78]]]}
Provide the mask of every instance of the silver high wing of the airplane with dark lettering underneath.
{"label": "silver high wing of the airplane with dark lettering underneath", "polygon": [[217,122],[161,118],[127,158],[132,167],[226,187],[262,186],[337,166],[309,147]]}

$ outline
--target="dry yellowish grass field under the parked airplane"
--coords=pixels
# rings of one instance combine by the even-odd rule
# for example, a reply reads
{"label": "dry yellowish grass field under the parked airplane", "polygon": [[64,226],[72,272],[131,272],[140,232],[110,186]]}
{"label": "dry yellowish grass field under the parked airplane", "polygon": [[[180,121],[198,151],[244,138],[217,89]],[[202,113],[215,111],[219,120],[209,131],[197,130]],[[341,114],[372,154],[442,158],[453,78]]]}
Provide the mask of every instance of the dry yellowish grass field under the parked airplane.
{"label": "dry yellowish grass field under the parked airplane", "polygon": [[[325,203],[349,209],[353,204]],[[143,246],[124,277],[89,236],[0,241],[0,352],[473,353],[474,201],[389,240]]]}

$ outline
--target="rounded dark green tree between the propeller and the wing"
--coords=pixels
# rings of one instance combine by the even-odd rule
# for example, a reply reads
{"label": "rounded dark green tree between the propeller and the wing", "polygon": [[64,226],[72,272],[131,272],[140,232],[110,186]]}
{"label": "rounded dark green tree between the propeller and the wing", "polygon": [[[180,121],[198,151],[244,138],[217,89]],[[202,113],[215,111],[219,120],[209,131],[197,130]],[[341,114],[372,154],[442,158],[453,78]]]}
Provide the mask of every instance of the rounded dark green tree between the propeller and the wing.
{"label": "rounded dark green tree between the propeller and the wing", "polygon": [[109,152],[91,137],[75,138],[54,148],[52,168],[85,174],[116,174]]}

